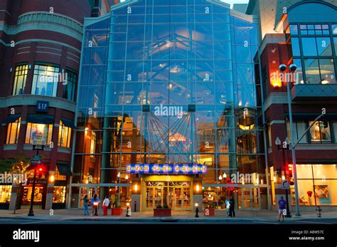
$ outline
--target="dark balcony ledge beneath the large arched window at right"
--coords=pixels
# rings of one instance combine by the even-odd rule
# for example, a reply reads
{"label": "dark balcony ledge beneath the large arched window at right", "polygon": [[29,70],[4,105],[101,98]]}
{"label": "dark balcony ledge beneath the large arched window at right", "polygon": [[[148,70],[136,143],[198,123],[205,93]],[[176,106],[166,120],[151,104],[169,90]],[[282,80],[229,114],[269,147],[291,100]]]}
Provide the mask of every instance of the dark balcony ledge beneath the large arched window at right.
{"label": "dark balcony ledge beneath the large arched window at right", "polygon": [[336,100],[337,84],[299,84],[291,88],[292,100]]}

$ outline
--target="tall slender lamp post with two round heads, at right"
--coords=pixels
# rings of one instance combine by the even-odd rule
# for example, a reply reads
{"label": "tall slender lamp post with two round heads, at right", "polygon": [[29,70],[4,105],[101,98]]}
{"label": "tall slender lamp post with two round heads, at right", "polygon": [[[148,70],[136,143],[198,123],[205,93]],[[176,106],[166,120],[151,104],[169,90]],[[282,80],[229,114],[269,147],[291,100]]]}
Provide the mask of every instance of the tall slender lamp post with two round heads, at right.
{"label": "tall slender lamp post with two round heads, at right", "polygon": [[[294,73],[297,67],[296,65],[291,64],[289,65],[289,69],[291,73]],[[282,73],[284,73],[284,71],[287,70],[287,66],[284,64],[279,65],[279,70],[281,70]],[[295,187],[296,216],[301,216],[301,214],[299,213],[299,186],[297,185],[297,168],[296,168],[296,156],[295,156],[295,144],[294,144],[294,129],[293,129],[292,110],[291,110],[290,82],[288,80],[287,80],[287,98],[288,98],[288,107],[289,107],[290,135],[292,137],[291,157],[292,157],[292,163],[294,165],[293,173],[294,173],[294,187]]]}

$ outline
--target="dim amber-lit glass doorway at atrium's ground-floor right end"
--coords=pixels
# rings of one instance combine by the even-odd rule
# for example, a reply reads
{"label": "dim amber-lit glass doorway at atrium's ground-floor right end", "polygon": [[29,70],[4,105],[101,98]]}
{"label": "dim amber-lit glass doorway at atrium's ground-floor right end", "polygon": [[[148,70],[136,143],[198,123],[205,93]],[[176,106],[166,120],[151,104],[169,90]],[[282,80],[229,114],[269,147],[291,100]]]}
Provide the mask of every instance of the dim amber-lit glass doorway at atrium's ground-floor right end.
{"label": "dim amber-lit glass doorway at atrium's ground-floor right end", "polygon": [[260,210],[261,197],[259,187],[244,187],[239,189],[239,201],[242,210]]}

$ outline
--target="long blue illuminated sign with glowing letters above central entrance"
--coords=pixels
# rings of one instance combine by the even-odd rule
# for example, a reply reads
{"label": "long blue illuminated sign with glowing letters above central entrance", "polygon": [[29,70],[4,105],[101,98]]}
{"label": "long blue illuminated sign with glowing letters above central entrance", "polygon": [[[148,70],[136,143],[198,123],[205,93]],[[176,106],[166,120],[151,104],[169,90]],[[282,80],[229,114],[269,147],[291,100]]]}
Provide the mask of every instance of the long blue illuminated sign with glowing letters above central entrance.
{"label": "long blue illuminated sign with glowing letters above central entrance", "polygon": [[205,174],[204,164],[127,164],[127,174]]}

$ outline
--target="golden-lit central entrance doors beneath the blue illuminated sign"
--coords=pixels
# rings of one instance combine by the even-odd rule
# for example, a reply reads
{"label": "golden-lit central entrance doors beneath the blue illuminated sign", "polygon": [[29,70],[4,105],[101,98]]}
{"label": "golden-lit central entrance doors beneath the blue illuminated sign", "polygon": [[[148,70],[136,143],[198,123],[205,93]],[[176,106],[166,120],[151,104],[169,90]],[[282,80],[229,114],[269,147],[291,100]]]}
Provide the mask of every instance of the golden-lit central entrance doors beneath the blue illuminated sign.
{"label": "golden-lit central entrance doors beneath the blue illuminated sign", "polygon": [[146,209],[191,210],[190,182],[146,182]]}

